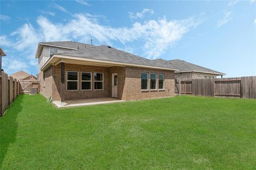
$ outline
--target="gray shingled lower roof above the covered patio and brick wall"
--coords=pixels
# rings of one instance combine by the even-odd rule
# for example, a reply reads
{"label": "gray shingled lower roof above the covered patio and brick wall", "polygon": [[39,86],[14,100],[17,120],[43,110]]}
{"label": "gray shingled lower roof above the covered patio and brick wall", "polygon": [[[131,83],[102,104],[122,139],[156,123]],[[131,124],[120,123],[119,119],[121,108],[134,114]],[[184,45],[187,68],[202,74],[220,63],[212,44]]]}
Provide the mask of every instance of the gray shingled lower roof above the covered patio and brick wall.
{"label": "gray shingled lower roof above the covered patio and brick wall", "polygon": [[153,60],[148,60],[147,58],[126,53],[126,52],[123,52],[122,50],[111,48],[105,45],[93,46],[92,48],[81,49],[81,50],[71,50],[69,52],[58,53],[58,54],[66,55],[66,56],[90,58],[95,60],[120,62],[120,63],[127,63],[127,64],[140,64],[140,65],[175,69],[169,64],[158,63]]}

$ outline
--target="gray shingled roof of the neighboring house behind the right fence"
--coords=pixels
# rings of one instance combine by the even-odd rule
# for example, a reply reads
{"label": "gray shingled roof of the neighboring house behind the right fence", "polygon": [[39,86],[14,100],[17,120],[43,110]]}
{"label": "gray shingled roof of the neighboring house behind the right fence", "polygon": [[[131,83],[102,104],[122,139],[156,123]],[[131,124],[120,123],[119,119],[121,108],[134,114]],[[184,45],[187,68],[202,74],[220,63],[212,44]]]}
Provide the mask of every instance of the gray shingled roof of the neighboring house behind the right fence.
{"label": "gray shingled roof of the neighboring house behind the right fence", "polygon": [[205,67],[196,65],[196,64],[192,64],[186,61],[182,61],[182,60],[163,60],[163,59],[157,59],[154,60],[157,61],[159,63],[165,63],[165,64],[170,64],[172,67],[175,67],[177,69],[179,69],[179,71],[176,72],[187,72],[187,71],[195,71],[195,72],[206,72],[206,73],[213,73],[213,74],[217,74],[217,75],[225,75],[224,73],[215,71],[215,70],[211,70],[211,69],[207,69]]}

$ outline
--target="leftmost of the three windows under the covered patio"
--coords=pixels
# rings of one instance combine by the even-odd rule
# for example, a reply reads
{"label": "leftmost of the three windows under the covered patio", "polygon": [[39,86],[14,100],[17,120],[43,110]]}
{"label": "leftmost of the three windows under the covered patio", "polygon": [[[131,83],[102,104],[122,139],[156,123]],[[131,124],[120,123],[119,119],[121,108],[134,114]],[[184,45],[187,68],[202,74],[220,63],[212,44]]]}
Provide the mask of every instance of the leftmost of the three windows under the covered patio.
{"label": "leftmost of the three windows under the covered patio", "polygon": [[67,90],[78,90],[77,71],[67,71]]}

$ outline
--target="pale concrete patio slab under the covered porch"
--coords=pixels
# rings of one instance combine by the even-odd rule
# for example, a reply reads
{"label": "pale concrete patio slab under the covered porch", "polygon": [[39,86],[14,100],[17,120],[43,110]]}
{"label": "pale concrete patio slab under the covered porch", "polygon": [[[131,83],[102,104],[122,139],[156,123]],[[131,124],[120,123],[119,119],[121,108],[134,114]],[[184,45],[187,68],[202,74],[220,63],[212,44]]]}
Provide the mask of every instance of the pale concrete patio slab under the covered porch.
{"label": "pale concrete patio slab under the covered porch", "polygon": [[119,100],[116,98],[92,98],[92,99],[79,99],[79,100],[65,100],[65,103],[60,101],[53,101],[57,107],[75,107],[75,106],[88,106],[88,105],[99,105],[99,104],[109,104],[118,103],[125,100]]}

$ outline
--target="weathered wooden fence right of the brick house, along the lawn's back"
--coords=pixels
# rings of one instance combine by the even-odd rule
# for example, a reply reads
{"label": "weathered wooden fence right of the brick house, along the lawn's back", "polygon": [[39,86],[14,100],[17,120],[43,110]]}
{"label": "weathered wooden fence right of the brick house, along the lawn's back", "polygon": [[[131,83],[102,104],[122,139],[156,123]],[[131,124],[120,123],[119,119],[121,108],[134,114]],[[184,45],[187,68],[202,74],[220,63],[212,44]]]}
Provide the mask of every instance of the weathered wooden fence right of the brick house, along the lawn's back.
{"label": "weathered wooden fence right of the brick house, along the lawn's back", "polygon": [[256,98],[256,77],[175,79],[176,95]]}

